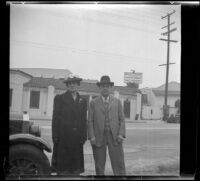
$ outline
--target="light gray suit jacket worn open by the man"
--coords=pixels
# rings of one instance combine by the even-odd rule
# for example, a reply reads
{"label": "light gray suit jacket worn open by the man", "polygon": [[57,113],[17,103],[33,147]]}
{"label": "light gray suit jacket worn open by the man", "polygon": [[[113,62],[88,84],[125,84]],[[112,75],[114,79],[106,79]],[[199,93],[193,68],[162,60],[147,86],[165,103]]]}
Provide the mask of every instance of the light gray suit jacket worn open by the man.
{"label": "light gray suit jacket worn open by the man", "polygon": [[[109,96],[109,121],[114,138],[114,144],[119,135],[126,137],[124,113],[119,99]],[[102,97],[99,96],[90,102],[88,115],[88,138],[96,139],[96,146],[101,146],[104,136],[105,109]]]}

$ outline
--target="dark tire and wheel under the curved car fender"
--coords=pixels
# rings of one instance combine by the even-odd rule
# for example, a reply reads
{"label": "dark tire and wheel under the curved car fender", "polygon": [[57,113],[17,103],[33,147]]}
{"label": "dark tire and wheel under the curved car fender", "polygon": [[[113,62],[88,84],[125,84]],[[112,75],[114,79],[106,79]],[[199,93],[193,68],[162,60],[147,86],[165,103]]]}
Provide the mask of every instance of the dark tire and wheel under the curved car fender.
{"label": "dark tire and wheel under the curved car fender", "polygon": [[48,174],[50,174],[50,163],[41,149],[29,144],[18,144],[10,147],[10,176]]}

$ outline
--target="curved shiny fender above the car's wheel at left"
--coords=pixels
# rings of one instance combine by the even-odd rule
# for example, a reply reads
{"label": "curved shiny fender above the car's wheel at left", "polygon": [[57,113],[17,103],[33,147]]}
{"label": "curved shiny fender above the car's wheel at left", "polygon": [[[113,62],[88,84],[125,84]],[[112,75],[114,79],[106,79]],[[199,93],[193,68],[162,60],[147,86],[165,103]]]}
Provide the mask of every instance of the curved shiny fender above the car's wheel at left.
{"label": "curved shiny fender above the car's wheel at left", "polygon": [[9,136],[10,145],[18,143],[27,143],[35,145],[41,150],[46,150],[47,152],[52,152],[50,144],[40,137],[36,137],[31,134],[13,134]]}

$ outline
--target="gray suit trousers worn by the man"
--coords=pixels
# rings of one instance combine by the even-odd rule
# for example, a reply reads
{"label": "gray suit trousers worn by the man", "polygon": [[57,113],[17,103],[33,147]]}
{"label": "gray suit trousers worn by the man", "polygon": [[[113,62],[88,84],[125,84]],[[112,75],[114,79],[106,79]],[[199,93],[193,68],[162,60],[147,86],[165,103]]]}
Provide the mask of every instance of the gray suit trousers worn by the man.
{"label": "gray suit trousers worn by the man", "polygon": [[105,130],[103,145],[101,147],[92,146],[96,175],[105,175],[107,147],[114,175],[126,175],[122,143],[114,144],[110,130]]}

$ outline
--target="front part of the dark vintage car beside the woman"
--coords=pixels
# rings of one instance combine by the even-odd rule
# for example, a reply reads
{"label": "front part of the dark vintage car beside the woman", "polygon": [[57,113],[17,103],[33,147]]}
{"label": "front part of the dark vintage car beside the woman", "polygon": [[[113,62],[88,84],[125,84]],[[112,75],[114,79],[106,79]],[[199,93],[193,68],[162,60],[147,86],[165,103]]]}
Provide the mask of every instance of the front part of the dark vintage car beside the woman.
{"label": "front part of the dark vintage car beside the woman", "polygon": [[40,136],[40,127],[33,122],[10,120],[7,176],[50,174],[44,150],[51,152],[51,146]]}

